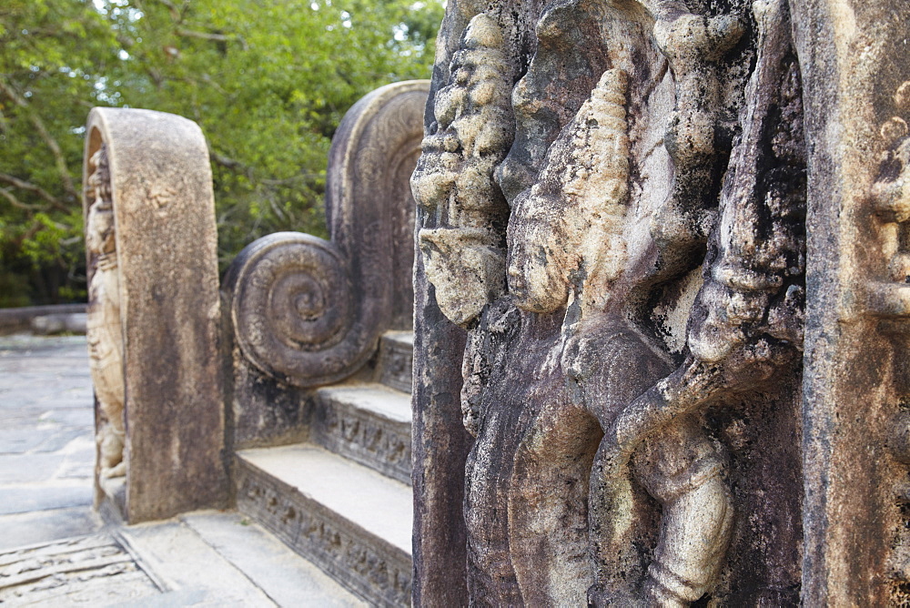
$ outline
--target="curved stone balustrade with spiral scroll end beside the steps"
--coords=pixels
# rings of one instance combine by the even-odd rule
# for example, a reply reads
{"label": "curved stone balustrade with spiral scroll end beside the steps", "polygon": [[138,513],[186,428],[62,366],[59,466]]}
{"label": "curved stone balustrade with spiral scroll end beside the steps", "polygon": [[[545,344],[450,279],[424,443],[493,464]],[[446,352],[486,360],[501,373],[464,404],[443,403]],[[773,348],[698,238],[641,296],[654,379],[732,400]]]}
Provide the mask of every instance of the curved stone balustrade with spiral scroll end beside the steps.
{"label": "curved stone balustrade with spiral scroll end beside the steps", "polygon": [[332,140],[330,240],[283,232],[245,248],[227,272],[243,356],[298,387],[348,377],[388,329],[411,329],[413,199],[429,83],[384,86],[353,106]]}

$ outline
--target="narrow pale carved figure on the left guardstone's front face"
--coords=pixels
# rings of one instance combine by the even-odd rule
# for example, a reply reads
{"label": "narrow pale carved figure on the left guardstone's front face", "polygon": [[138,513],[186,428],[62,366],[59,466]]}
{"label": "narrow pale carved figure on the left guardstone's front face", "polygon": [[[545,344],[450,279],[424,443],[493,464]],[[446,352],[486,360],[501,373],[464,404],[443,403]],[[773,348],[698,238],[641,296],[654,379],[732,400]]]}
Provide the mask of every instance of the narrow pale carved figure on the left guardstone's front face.
{"label": "narrow pale carved figure on the left guardstone's front face", "polygon": [[126,473],[124,451],[123,333],[120,324],[120,273],[117,269],[114,207],[106,146],[92,156],[88,177],[92,203],[86,218],[86,247],[96,258],[88,285],[87,339],[95,394],[103,414],[96,441],[102,477]]}

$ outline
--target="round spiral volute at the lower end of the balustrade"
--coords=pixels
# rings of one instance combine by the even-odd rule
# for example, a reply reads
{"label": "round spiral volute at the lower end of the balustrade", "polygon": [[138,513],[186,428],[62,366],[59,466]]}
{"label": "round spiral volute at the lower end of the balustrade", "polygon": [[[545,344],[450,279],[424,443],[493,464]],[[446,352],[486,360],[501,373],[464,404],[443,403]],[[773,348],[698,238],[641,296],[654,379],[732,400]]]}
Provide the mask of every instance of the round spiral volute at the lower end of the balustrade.
{"label": "round spiral volute at the lower end of the balustrade", "polygon": [[298,232],[268,235],[240,253],[230,281],[238,345],[259,370],[313,386],[339,380],[362,363],[347,339],[353,294],[334,244]]}

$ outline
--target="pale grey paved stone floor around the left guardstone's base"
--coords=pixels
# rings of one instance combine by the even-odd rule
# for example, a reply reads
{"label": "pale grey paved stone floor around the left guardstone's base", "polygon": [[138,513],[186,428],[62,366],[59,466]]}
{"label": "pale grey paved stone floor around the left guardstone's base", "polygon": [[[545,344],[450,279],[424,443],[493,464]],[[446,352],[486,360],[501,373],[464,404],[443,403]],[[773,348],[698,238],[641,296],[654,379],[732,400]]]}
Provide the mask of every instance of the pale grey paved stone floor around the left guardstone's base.
{"label": "pale grey paved stone floor around the left guardstone's base", "polygon": [[362,606],[237,512],[106,526],[92,511],[85,336],[0,337],[0,604]]}

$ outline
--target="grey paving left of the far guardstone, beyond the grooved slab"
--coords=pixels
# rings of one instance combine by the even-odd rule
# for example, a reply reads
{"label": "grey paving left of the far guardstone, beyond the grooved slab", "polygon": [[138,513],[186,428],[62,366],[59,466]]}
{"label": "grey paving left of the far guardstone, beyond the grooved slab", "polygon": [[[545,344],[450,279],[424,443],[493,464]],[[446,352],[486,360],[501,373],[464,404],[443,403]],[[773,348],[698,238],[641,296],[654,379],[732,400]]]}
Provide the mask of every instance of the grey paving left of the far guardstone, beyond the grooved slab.
{"label": "grey paving left of the far guardstone, beyond the grooved slab", "polygon": [[85,336],[0,338],[0,551],[97,532]]}

